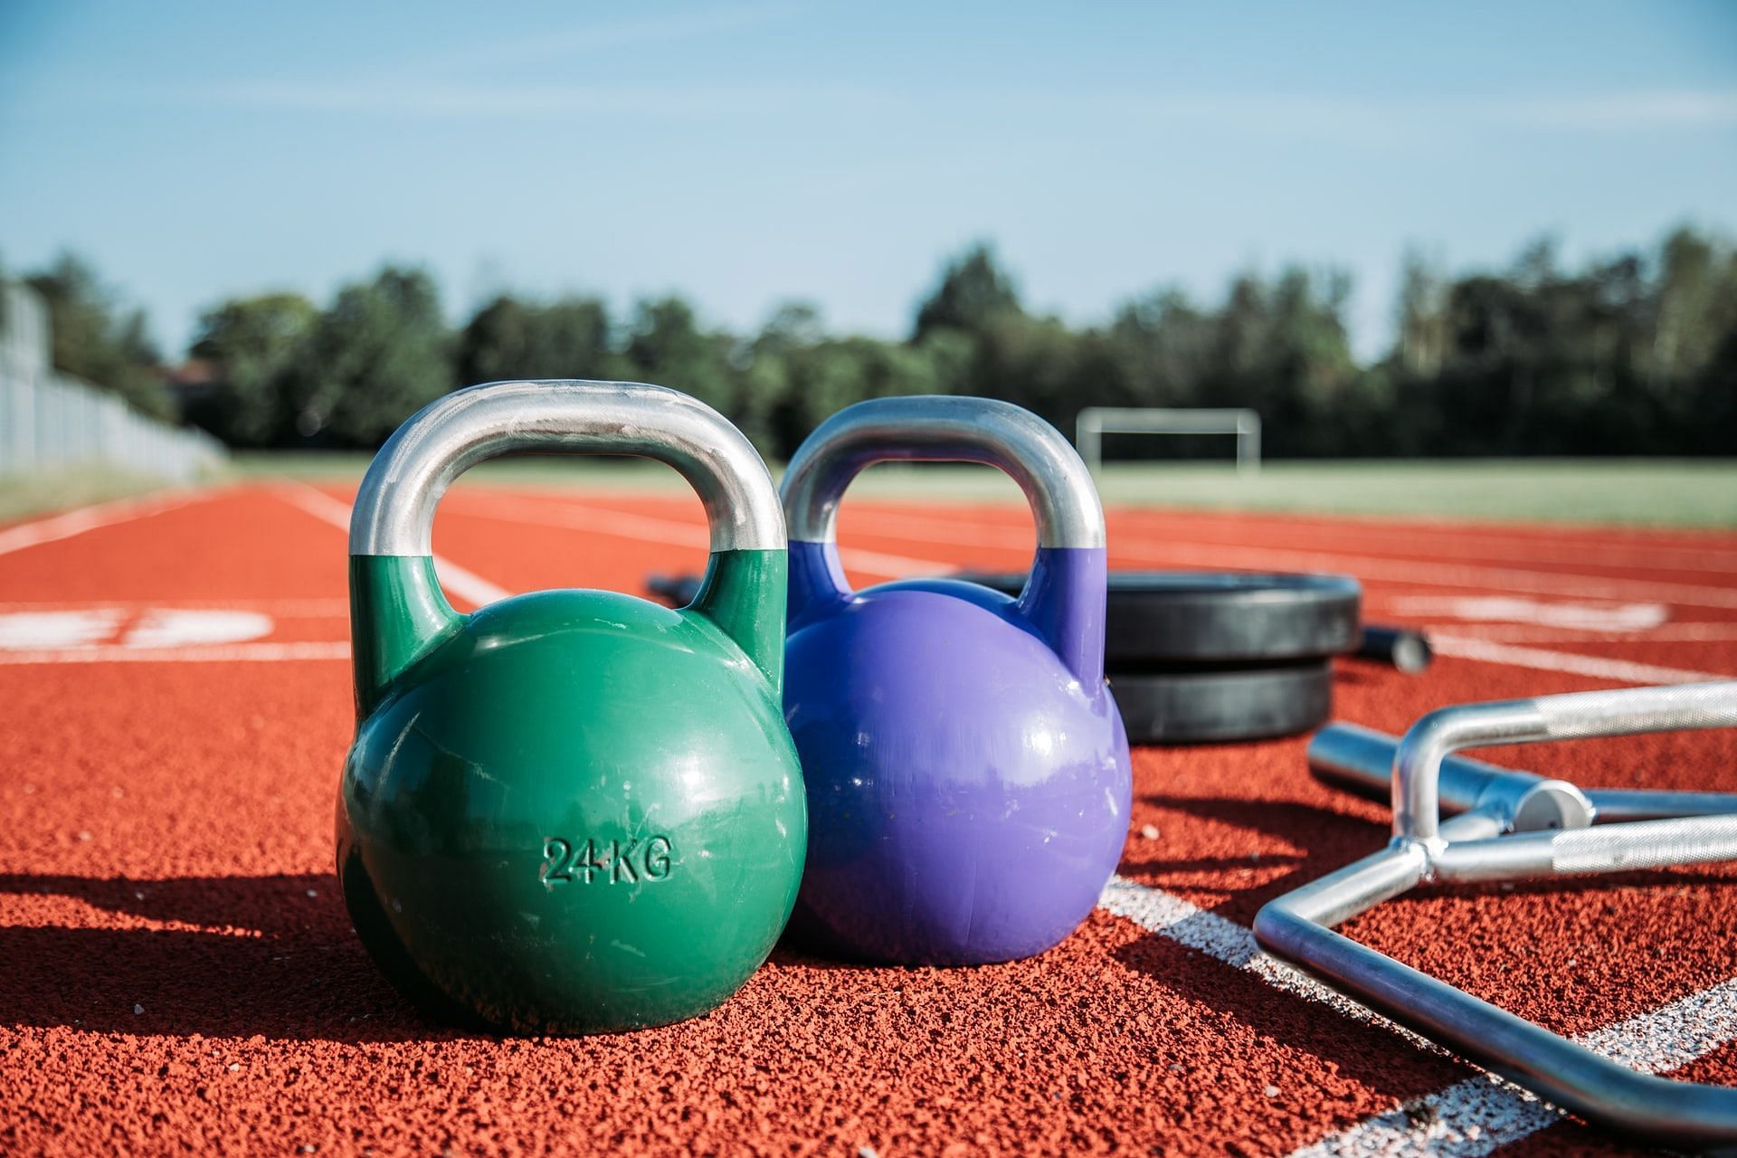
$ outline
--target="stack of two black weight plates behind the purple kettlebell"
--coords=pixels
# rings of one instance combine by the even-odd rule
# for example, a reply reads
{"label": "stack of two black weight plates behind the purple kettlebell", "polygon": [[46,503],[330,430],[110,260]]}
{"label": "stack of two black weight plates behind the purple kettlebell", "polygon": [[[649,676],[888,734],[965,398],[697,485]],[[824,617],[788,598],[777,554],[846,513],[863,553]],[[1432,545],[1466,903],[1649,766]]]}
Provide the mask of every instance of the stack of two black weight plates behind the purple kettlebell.
{"label": "stack of two black weight plates behind the purple kettlebell", "polygon": [[[968,573],[1007,594],[1021,573]],[[1343,575],[1112,571],[1105,668],[1131,743],[1265,740],[1332,712],[1332,656],[1360,641]]]}

